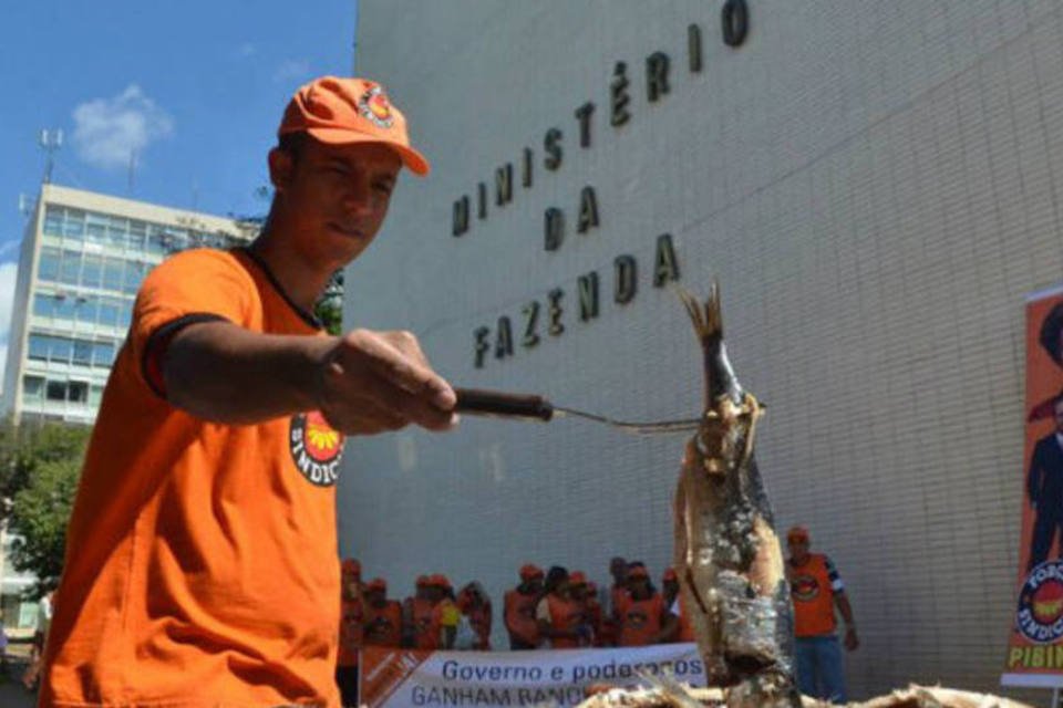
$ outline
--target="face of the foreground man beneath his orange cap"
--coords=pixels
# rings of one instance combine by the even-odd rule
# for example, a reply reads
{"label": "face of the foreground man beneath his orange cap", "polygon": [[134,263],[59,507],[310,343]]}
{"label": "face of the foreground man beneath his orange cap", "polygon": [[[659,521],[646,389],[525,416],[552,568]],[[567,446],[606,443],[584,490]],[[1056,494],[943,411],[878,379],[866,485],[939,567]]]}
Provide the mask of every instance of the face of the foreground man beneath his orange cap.
{"label": "face of the foreground man beneath his orange cap", "polygon": [[[303,252],[337,268],[372,242],[388,215],[402,160],[385,145],[306,140],[297,156],[275,149],[270,175]],[[316,259],[317,260],[317,259]]]}

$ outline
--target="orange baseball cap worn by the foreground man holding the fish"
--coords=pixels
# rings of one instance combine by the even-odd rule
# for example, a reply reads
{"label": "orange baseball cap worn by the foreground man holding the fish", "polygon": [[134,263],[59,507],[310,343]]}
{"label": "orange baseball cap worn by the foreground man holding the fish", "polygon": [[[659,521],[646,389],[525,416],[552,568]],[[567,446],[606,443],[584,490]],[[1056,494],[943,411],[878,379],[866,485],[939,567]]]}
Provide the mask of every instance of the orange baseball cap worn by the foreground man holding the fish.
{"label": "orange baseball cap worn by the foreground man holding the fish", "polygon": [[277,136],[306,132],[330,145],[380,143],[415,175],[427,175],[424,155],[410,147],[406,118],[384,87],[368,79],[321,76],[300,86],[285,108]]}

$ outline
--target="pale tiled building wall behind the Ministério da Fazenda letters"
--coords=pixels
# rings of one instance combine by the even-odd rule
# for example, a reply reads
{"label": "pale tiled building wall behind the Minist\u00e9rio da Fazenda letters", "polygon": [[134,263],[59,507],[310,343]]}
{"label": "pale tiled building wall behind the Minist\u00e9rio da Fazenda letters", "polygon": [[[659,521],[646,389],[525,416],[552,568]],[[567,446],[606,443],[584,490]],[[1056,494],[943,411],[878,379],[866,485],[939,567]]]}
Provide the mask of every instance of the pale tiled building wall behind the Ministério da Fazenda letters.
{"label": "pale tiled building wall behind the Minist\u00e9rio da Fazenda letters", "polygon": [[[403,178],[379,242],[350,268],[347,324],[414,331],[456,385],[690,416],[699,351],[650,279],[671,235],[681,284],[720,280],[732,362],[770,406],[757,455],[780,524],[806,523],[847,582],[864,639],[848,658],[854,693],[994,689],[1022,503],[1023,295],[1063,280],[1063,4],[747,4],[750,33],[731,48],[721,2],[361,2],[357,72],[385,83],[434,171]],[[670,92],[650,102],[654,52],[671,60]],[[620,127],[617,62],[630,80]],[[574,112],[588,101],[580,147]],[[556,171],[543,166],[551,127]],[[499,207],[506,163],[514,198]],[[586,186],[600,225],[578,235]],[[455,238],[463,195],[471,228]],[[550,207],[567,233],[548,252]],[[623,305],[611,300],[621,254],[639,268]],[[577,279],[590,271],[600,313],[581,322]],[[541,342],[522,346],[523,308],[545,309],[555,288],[565,332],[540,319]],[[477,368],[473,333],[491,327],[494,343],[502,315],[515,353]],[[446,572],[484,581],[496,606],[529,560],[603,583],[619,553],[659,577],[682,445],[468,417],[447,436],[351,440],[341,550],[393,594]]]}

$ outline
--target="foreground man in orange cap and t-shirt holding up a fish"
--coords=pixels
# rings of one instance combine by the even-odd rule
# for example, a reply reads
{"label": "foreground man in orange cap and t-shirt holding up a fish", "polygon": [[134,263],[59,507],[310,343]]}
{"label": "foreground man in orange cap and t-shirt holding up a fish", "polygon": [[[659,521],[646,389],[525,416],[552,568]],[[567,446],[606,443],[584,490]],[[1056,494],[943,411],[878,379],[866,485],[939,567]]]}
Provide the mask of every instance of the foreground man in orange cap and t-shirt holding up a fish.
{"label": "foreground man in orange cap and t-shirt holding up a fish", "polygon": [[301,86],[246,248],[144,280],[66,534],[42,705],[340,701],[343,438],[456,424],[405,332],[328,335],[314,303],[373,241],[403,168],[429,173],[380,83]]}

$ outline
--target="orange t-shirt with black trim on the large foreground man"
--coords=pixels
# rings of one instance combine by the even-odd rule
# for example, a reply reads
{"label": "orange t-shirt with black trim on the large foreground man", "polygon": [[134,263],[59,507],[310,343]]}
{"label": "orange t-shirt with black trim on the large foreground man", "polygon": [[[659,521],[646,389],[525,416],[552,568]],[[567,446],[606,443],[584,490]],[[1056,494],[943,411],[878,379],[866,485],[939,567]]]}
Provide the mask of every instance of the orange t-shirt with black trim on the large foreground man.
{"label": "orange t-shirt with black trim on the large foreground man", "polygon": [[339,706],[343,439],[317,413],[220,425],[155,393],[151,345],[211,319],[321,334],[246,251],[148,274],[85,457],[41,705]]}

